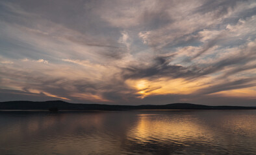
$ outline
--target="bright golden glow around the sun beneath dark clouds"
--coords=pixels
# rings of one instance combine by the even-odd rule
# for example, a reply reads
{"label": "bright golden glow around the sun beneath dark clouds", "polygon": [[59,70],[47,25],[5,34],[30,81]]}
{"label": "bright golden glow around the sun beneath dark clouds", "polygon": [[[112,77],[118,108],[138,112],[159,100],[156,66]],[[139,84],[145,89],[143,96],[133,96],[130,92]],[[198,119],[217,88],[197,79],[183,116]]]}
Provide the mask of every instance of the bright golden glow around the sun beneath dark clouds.
{"label": "bright golden glow around the sun beneath dark clouds", "polygon": [[126,83],[137,90],[137,94],[140,94],[140,98],[145,98],[149,95],[190,94],[200,88],[207,87],[209,81],[211,81],[211,78],[201,78],[196,81],[187,81],[183,78],[160,78],[152,81],[148,79],[129,79]]}

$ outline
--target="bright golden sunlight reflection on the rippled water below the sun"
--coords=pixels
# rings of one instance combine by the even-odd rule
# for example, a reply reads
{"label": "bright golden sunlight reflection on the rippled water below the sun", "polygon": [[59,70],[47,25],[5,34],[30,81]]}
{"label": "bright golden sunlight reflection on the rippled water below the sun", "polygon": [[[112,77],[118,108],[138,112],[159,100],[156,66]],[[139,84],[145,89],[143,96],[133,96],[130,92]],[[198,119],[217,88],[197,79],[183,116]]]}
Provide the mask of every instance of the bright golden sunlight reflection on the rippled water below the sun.
{"label": "bright golden sunlight reflection on the rippled water below the sun", "polygon": [[202,135],[207,134],[207,138],[212,139],[214,135],[204,129],[201,125],[192,122],[189,119],[151,119],[156,118],[149,116],[140,116],[140,121],[134,129],[128,132],[130,139],[137,139],[140,142],[161,139],[165,141],[172,139],[175,141],[185,141],[186,139],[203,138]]}

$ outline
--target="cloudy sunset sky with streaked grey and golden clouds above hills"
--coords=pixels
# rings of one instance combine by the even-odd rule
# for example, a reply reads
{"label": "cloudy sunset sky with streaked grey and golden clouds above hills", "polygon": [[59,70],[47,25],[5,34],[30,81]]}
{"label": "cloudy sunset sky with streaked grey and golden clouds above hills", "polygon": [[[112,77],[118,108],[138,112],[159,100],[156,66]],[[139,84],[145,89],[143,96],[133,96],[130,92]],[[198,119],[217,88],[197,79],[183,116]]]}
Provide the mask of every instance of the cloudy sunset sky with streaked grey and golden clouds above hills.
{"label": "cloudy sunset sky with streaked grey and golden clouds above hills", "polygon": [[0,101],[256,106],[256,1],[0,0]]}

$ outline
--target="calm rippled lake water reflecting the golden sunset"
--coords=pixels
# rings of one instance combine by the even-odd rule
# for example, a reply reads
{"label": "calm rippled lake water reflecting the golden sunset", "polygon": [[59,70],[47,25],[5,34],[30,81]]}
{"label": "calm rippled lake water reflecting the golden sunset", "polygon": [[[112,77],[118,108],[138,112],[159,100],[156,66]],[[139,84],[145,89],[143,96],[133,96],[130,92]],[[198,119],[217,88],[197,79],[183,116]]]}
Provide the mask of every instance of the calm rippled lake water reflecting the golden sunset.
{"label": "calm rippled lake water reflecting the golden sunset", "polygon": [[256,110],[2,111],[0,154],[256,154]]}

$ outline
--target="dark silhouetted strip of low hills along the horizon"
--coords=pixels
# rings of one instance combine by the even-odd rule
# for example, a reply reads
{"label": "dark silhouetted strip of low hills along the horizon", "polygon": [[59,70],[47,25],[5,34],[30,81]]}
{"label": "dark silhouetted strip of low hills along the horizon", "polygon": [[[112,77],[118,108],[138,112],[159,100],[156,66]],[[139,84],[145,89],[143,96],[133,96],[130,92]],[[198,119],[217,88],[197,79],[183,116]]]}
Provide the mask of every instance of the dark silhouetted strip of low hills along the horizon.
{"label": "dark silhouetted strip of low hills along the horizon", "polygon": [[231,109],[256,109],[256,107],[238,106],[208,106],[191,103],[172,103],[168,105],[100,105],[77,104],[65,101],[6,101],[0,102],[0,110],[231,110]]}

